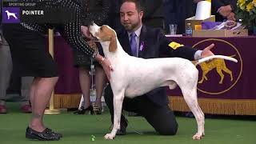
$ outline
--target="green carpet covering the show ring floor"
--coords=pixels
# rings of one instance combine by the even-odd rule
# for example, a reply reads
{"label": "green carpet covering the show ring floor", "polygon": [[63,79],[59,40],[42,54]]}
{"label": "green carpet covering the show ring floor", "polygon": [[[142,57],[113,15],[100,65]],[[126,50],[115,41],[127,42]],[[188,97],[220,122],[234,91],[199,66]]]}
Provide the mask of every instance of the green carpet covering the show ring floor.
{"label": "green carpet covering the show ring floor", "polygon": [[[8,114],[0,114],[0,144],[30,144],[30,143],[111,143],[111,144],[255,144],[256,121],[206,118],[206,136],[200,141],[192,140],[196,132],[194,118],[177,117],[179,128],[175,136],[161,136],[142,117],[127,117],[129,126],[125,136],[117,136],[113,141],[106,141],[103,137],[109,131],[110,116],[106,112],[102,115],[46,114],[46,126],[62,133],[64,137],[58,142],[30,141],[25,138],[26,126],[30,114],[21,114],[17,103],[7,103]],[[91,141],[91,135],[95,141]]]}

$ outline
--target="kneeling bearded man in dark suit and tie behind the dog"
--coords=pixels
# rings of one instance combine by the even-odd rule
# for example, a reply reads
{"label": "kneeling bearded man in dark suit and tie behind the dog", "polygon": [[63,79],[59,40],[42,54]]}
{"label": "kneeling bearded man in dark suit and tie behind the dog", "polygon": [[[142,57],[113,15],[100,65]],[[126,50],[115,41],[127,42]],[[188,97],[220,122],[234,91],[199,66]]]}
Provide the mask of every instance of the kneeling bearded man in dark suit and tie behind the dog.
{"label": "kneeling bearded man in dark suit and tie behind the dog", "polygon": [[[205,50],[194,50],[178,43],[175,43],[177,46],[168,46],[170,43],[171,45],[174,43],[162,34],[162,30],[142,24],[143,14],[142,6],[137,0],[122,2],[120,20],[123,28],[117,34],[118,40],[126,53],[140,58],[181,57],[190,60],[213,55],[210,49],[214,45],[206,47]],[[131,36],[133,37],[131,38]],[[132,40],[134,38],[136,44]],[[113,123],[113,92],[110,85],[106,87],[104,97],[106,105],[110,109]],[[168,103],[166,90],[160,87],[141,97],[124,98],[122,109],[142,115],[159,134],[174,135],[178,130],[178,123]],[[127,125],[126,118],[122,115],[121,128],[117,134],[126,134]]]}

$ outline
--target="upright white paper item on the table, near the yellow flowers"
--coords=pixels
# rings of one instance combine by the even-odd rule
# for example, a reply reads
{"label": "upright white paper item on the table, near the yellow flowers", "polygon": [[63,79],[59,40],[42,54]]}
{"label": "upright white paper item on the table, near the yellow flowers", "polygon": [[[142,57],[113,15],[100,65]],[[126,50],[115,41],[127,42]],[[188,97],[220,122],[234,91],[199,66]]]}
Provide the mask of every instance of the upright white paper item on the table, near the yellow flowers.
{"label": "upright white paper item on the table, near the yellow flowers", "polygon": [[197,10],[195,13],[195,20],[203,20],[206,18],[210,18],[210,7],[211,7],[211,2],[208,2],[208,1],[198,2]]}

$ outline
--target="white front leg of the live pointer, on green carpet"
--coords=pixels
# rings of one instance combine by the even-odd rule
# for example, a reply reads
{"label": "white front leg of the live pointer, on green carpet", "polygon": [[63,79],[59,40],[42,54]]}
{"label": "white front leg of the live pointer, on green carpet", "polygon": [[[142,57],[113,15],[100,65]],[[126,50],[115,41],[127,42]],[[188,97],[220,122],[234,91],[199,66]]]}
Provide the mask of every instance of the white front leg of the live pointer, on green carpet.
{"label": "white front leg of the live pointer, on green carpet", "polygon": [[120,129],[120,121],[121,121],[121,114],[122,114],[122,101],[124,96],[125,90],[120,90],[118,94],[113,91],[113,105],[114,105],[114,125],[113,129],[110,134],[106,134],[106,139],[113,139],[117,134],[118,129]]}

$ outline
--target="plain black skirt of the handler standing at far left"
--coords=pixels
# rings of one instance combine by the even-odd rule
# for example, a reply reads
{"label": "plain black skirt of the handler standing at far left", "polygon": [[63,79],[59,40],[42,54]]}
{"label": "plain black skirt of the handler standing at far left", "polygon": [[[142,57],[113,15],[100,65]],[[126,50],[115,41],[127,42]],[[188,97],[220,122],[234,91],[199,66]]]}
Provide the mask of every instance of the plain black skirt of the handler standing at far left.
{"label": "plain black skirt of the handler standing at far left", "polygon": [[43,34],[27,30],[19,24],[4,26],[4,34],[10,43],[15,75],[42,78],[58,75],[57,66],[46,50]]}

